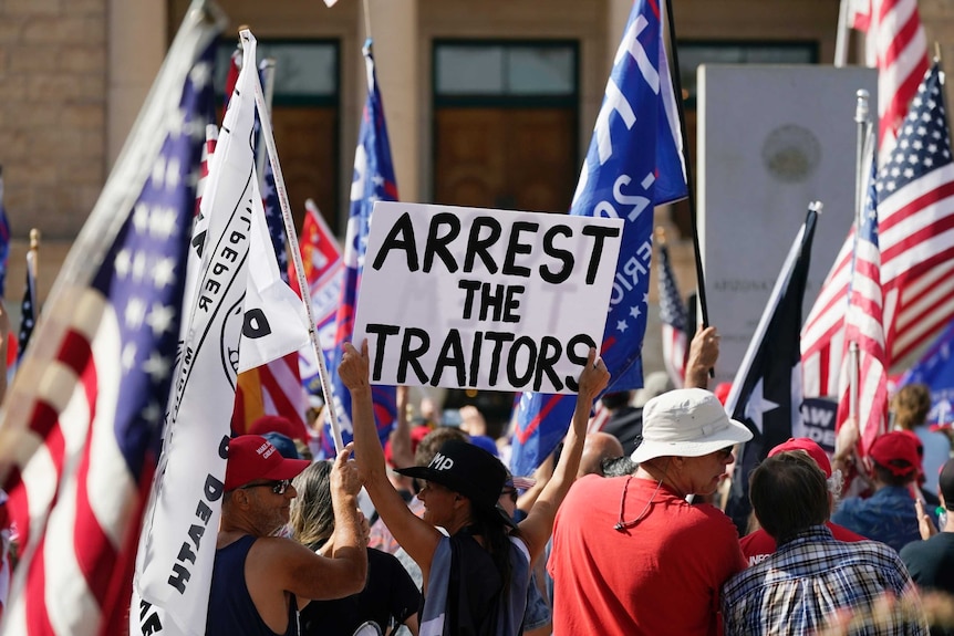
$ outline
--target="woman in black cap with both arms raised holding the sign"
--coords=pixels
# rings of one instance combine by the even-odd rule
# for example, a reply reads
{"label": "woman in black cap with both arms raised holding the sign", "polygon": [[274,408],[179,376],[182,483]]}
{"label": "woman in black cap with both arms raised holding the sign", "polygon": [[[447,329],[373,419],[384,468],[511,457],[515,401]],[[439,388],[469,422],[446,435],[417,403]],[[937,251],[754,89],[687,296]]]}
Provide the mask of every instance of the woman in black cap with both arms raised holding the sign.
{"label": "woman in black cap with both arms raised holding the sign", "polygon": [[382,520],[424,576],[422,636],[519,634],[529,564],[542,553],[553,530],[557,508],[577,475],[590,409],[610,379],[597,351],[590,350],[579,378],[579,397],[560,463],[527,518],[512,530],[512,521],[497,504],[507,478],[504,465],[489,452],[459,441],[445,442],[426,467],[398,470],[426,481],[418,494],[424,519],[415,517],[387,479],[374,425],[366,342],[361,353],[345,345],[338,373],[351,392],[355,458],[364,486]]}

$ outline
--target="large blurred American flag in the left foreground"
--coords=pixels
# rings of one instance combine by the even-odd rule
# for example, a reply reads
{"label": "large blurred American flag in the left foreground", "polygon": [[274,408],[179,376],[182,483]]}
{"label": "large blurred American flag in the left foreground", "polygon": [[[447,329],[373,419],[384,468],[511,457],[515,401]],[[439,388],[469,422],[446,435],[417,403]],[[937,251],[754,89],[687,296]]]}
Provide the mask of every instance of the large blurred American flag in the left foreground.
{"label": "large blurred American flag in the left foreground", "polygon": [[194,6],[73,246],[0,423],[6,634],[125,632],[176,355],[218,25]]}

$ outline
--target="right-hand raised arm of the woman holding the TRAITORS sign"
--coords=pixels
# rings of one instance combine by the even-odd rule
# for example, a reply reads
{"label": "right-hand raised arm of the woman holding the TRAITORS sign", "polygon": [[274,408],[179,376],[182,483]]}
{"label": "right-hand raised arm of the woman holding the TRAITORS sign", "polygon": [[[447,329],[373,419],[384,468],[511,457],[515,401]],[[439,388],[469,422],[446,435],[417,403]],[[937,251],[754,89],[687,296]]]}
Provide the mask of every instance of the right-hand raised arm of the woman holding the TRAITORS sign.
{"label": "right-hand raised arm of the woman holding the TRAITORS sign", "polygon": [[597,357],[597,350],[591,348],[587,358],[587,366],[580,374],[577,408],[573,410],[570,430],[563,440],[560,461],[553,470],[553,477],[547,482],[543,492],[540,493],[527,514],[527,519],[521,521],[519,525],[520,538],[527,544],[531,563],[547,545],[550,533],[553,532],[557,509],[577,479],[580,457],[583,455],[583,442],[587,437],[587,424],[590,421],[590,410],[593,407],[593,400],[606,388],[609,382],[610,372],[606,371],[606,365]]}

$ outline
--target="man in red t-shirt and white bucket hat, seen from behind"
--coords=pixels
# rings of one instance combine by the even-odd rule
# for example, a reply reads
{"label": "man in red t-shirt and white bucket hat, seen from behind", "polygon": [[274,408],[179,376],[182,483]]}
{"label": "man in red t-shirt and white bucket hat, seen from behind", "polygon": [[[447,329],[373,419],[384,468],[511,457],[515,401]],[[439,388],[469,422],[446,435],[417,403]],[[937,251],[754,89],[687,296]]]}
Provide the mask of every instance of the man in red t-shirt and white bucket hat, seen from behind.
{"label": "man in red t-shirt and white bucket hat, seen from behind", "polygon": [[557,511],[554,636],[717,634],[719,587],[745,559],[728,517],[687,498],[715,492],[749,439],[707,390],[646,403],[636,471],[578,479]]}

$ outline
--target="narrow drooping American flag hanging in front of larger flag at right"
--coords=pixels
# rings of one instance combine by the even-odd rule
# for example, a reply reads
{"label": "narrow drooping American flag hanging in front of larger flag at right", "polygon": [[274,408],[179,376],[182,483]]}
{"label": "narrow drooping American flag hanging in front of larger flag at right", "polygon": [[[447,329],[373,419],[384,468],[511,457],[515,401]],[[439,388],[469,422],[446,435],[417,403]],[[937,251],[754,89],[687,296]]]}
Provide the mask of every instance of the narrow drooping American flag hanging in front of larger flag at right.
{"label": "narrow drooping American flag hanging in front of larger flag at right", "polygon": [[[869,145],[873,143],[871,136]],[[870,155],[871,171],[865,184],[865,205],[854,233],[837,418],[839,425],[844,423],[857,397],[862,452],[868,450],[875,437],[885,431],[888,415],[884,298],[881,290],[881,252],[878,249],[878,158],[873,148],[870,148]],[[856,345],[857,356],[850,355],[849,348]]]}

